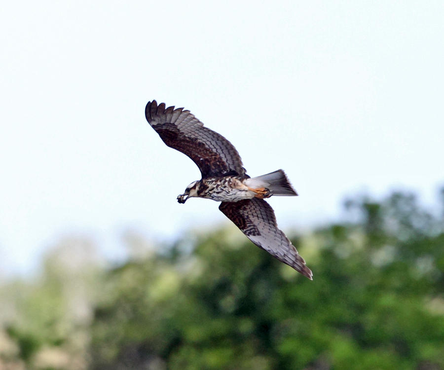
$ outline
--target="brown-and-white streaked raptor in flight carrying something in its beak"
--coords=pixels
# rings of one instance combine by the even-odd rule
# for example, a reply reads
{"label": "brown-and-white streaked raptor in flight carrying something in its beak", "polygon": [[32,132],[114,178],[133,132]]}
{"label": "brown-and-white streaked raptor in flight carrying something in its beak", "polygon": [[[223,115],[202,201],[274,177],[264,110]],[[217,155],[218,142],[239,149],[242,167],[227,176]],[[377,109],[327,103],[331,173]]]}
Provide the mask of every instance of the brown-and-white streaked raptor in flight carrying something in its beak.
{"label": "brown-and-white streaked raptor in flight carrying something in its beak", "polygon": [[165,103],[157,105],[153,100],[145,108],[145,117],[168,147],[187,155],[201,172],[202,178],[178,195],[179,203],[192,197],[222,202],[222,213],[254,244],[313,280],[312,271],[278,228],[274,211],[265,201],[273,195],[298,195],[283,170],[251,178],[236,148],[184,108],[166,108]]}

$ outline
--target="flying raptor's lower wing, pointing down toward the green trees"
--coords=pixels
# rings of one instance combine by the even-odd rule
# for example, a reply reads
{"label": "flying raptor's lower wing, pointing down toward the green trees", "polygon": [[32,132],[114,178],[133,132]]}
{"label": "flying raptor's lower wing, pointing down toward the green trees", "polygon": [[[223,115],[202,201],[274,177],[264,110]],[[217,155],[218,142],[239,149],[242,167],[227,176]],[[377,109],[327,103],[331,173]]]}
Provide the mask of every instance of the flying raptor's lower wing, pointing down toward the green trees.
{"label": "flying raptor's lower wing, pointing down toward the green trees", "polygon": [[304,259],[278,229],[274,211],[266,201],[252,198],[239,202],[222,202],[219,209],[258,247],[313,280],[313,274],[305,265]]}

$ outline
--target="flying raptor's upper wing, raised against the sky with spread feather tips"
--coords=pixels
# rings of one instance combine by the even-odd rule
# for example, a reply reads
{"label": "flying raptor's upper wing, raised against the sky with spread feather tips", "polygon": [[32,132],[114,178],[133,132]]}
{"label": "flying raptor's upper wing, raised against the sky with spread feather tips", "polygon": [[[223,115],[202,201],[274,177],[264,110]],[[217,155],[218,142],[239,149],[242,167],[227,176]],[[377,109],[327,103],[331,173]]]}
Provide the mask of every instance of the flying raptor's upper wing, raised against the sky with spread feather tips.
{"label": "flying raptor's upper wing, raised against the sky with spread feather tips", "polygon": [[222,135],[203,126],[183,108],[157,106],[153,100],[145,108],[151,127],[170,148],[181,151],[199,167],[202,179],[225,175],[246,176],[236,148]]}

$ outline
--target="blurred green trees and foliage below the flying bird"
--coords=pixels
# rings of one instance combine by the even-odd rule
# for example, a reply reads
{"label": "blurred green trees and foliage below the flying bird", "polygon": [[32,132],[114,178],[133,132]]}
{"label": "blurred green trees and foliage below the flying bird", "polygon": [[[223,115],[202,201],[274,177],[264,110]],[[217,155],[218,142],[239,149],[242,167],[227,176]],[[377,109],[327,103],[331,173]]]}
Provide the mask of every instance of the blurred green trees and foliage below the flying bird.
{"label": "blurred green trees and foliage below the flying bird", "polygon": [[444,369],[440,201],[347,200],[347,222],[292,238],[313,281],[234,226],[165,248],[127,235],[139,253],[114,267],[61,242],[38,279],[0,287],[0,369]]}

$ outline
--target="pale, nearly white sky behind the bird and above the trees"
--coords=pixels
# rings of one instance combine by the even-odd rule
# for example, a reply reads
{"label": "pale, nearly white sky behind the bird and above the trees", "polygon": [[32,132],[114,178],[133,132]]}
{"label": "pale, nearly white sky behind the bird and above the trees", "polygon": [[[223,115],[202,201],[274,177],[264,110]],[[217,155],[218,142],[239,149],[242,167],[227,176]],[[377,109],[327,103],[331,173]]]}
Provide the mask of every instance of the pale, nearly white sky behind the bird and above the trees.
{"label": "pale, nearly white sky behind the bird and above the trees", "polygon": [[[442,1],[8,1],[0,13],[0,275],[67,235],[119,258],[121,234],[169,241],[228,225],[176,201],[200,172],[146,122],[185,107],[250,176],[286,171],[284,230],[344,197],[444,185]],[[234,227],[234,226],[233,226]],[[240,232],[240,231],[239,231]]]}

